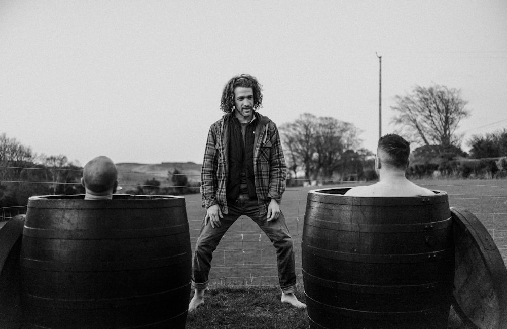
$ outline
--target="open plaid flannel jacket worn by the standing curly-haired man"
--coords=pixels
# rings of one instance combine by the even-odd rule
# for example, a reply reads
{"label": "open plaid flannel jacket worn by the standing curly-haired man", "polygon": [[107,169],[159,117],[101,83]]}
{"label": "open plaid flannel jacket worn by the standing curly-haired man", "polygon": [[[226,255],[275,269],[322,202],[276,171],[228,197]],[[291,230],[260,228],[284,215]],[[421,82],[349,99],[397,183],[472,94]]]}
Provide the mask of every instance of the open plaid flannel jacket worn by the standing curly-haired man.
{"label": "open plaid flannel jacket worn by the standing curly-haired man", "polygon": [[[229,175],[229,120],[225,114],[209,128],[201,170],[202,206],[219,204],[228,213],[226,186]],[[286,167],[276,124],[266,116],[254,112],[258,120],[253,150],[253,176],[259,214],[268,211],[271,199],[281,203],[285,191]]]}

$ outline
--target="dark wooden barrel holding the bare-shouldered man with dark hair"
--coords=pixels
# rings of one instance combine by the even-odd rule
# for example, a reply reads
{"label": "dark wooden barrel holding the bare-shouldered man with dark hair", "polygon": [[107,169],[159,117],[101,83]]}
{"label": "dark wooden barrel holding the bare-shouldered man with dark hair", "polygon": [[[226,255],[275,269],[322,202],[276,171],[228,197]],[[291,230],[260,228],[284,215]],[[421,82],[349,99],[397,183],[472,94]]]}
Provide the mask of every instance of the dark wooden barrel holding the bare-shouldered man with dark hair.
{"label": "dark wooden barrel holding the bare-shouldered man with dark hair", "polygon": [[454,244],[447,193],[308,193],[303,282],[312,329],[447,328]]}

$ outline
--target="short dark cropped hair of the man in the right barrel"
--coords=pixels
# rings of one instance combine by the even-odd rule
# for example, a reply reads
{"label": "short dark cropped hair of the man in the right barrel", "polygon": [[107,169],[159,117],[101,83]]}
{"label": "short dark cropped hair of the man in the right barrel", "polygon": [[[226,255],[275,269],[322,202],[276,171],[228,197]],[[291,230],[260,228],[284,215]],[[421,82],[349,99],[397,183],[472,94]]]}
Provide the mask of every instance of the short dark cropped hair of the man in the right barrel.
{"label": "short dark cropped hair of the man in the right barrel", "polygon": [[410,143],[396,134],[387,134],[380,137],[377,153],[382,163],[405,169],[410,155]]}

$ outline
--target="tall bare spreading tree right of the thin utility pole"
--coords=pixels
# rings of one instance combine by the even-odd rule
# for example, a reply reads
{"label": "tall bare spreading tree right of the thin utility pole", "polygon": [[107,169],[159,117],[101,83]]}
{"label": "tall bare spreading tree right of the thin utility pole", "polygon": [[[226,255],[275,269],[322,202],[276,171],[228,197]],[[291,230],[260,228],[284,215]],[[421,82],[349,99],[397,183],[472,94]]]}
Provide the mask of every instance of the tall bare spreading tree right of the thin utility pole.
{"label": "tall bare spreading tree right of the thin utility pole", "polygon": [[434,85],[428,88],[416,86],[412,94],[395,96],[397,112],[393,123],[400,126],[400,133],[421,145],[437,145],[440,155],[446,155],[457,147],[463,138],[456,129],[461,119],[469,116],[467,101],[461,99],[461,91]]}

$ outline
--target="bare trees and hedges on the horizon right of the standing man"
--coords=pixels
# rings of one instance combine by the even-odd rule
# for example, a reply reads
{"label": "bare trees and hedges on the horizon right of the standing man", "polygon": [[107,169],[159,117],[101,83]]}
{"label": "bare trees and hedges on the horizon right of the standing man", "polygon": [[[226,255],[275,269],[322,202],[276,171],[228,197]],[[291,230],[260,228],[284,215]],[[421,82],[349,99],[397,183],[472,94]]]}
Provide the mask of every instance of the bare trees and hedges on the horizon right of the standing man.
{"label": "bare trees and hedges on the horizon right of the standing man", "polygon": [[[473,135],[461,149],[461,120],[470,116],[461,91],[446,86],[414,87],[394,97],[391,124],[411,142],[412,165],[408,174],[422,178],[439,172],[443,176],[503,177],[507,172],[507,130]],[[302,114],[280,126],[289,177],[308,180],[374,180],[373,153],[360,147],[353,124],[330,117]],[[463,161],[463,159],[484,159]]]}

